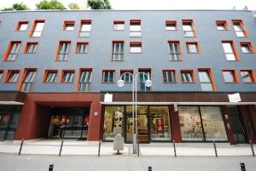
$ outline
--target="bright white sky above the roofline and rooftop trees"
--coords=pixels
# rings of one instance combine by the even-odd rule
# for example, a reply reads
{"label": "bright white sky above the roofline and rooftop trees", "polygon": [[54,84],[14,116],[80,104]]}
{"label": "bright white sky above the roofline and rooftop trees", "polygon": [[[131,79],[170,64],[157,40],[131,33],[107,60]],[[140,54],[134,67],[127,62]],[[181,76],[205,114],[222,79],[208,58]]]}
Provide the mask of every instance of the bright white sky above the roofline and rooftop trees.
{"label": "bright white sky above the roofline and rooftop trees", "polygon": [[[86,9],[86,0],[59,0],[61,3],[79,3]],[[247,6],[256,10],[256,0],[109,0],[113,9],[243,9]],[[40,0],[0,0],[0,9],[10,7],[13,3],[26,3],[30,9],[36,9]],[[3,3],[2,3],[3,2]]]}

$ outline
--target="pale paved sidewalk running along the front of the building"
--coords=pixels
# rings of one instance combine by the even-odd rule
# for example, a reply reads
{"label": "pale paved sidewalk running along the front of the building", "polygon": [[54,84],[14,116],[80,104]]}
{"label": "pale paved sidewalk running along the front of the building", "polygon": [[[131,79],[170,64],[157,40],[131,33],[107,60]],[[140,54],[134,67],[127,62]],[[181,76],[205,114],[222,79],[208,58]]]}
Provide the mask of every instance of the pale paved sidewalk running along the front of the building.
{"label": "pale paved sidewalk running along the front of the building", "polygon": [[[84,140],[64,140],[61,155],[98,155],[98,141]],[[216,143],[218,156],[252,156],[252,149],[249,144],[230,145],[229,143]],[[61,140],[26,140],[21,154],[36,155],[58,155],[61,147]],[[20,141],[3,141],[0,142],[0,152],[16,153],[20,150]],[[215,156],[212,143],[177,143],[177,157],[189,156]],[[255,147],[254,147],[255,151]],[[122,155],[132,156],[132,145],[125,144]],[[116,155],[113,151],[113,143],[102,142],[101,156]],[[174,148],[172,143],[151,143],[140,144],[141,156],[174,156]]]}

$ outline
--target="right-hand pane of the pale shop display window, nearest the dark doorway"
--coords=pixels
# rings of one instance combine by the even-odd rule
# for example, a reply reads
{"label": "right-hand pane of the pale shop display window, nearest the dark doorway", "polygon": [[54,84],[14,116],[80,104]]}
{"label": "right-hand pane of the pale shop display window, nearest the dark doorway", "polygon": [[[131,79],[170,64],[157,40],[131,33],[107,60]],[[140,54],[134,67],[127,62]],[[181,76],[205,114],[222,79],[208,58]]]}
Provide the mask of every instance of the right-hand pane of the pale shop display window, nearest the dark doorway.
{"label": "right-hand pane of the pale shop display window, nearest the dark doorway", "polygon": [[200,106],[206,140],[228,140],[218,106]]}

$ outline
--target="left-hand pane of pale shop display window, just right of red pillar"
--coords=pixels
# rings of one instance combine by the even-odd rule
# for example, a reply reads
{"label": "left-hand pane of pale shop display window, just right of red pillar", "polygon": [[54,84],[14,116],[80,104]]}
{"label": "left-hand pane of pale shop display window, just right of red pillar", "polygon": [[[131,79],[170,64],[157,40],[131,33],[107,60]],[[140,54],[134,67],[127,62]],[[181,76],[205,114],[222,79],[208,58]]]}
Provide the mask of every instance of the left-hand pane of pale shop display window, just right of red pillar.
{"label": "left-hand pane of pale shop display window, just right of red pillar", "polygon": [[178,115],[183,140],[204,140],[198,106],[178,106]]}

